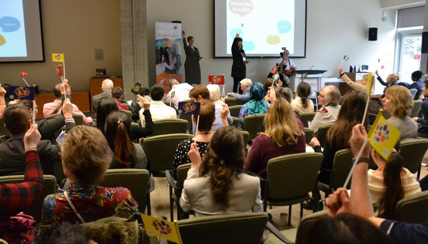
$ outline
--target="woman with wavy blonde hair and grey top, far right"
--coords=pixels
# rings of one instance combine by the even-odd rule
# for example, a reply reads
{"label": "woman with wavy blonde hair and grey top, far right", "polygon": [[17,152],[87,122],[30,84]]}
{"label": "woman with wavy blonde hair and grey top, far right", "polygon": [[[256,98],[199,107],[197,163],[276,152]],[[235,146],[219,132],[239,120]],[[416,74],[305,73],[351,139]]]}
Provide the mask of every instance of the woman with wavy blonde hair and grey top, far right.
{"label": "woman with wavy blonde hair and grey top, far right", "polygon": [[413,108],[413,97],[404,86],[394,85],[385,91],[383,108],[391,114],[388,122],[401,131],[400,140],[416,139],[418,126],[409,117]]}

